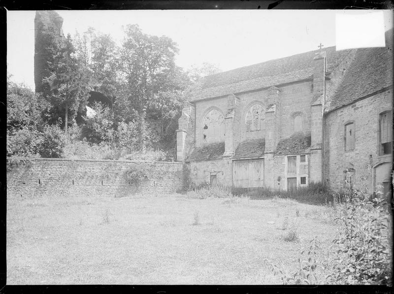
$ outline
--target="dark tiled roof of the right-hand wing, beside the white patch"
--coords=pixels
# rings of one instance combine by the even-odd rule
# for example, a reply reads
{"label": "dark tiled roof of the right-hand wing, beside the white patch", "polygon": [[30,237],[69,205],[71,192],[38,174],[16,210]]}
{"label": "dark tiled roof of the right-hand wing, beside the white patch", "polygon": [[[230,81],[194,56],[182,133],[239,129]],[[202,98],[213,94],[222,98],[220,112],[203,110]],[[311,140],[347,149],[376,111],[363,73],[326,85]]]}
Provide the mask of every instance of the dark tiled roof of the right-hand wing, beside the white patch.
{"label": "dark tiled roof of the right-hand wing, beside the white patch", "polygon": [[386,47],[361,48],[331,98],[328,110],[393,85],[393,29],[386,32]]}

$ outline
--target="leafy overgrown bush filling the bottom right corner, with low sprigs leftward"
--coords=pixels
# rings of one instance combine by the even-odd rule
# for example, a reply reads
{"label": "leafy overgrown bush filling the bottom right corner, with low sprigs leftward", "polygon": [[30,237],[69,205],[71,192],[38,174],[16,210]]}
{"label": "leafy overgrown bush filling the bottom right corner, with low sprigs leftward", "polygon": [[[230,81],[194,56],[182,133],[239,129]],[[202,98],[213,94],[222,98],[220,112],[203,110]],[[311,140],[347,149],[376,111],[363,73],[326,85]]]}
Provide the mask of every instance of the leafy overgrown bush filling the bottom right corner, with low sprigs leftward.
{"label": "leafy overgrown bush filling the bottom right corner, with low sprigs leftward", "polygon": [[389,207],[376,195],[380,197],[371,199],[366,191],[356,190],[334,195],[326,207],[338,227],[331,247],[323,250],[316,238],[310,241],[300,252],[295,272],[267,261],[274,275],[283,284],[392,285]]}

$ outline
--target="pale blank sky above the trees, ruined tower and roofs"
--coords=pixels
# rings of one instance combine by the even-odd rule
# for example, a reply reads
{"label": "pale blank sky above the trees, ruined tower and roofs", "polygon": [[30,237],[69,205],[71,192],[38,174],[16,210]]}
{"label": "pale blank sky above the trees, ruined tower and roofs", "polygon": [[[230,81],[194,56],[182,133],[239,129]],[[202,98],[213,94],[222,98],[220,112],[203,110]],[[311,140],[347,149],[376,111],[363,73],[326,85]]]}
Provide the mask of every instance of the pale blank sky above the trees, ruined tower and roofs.
{"label": "pale blank sky above the trees, ruined tower and roofs", "polygon": [[[390,10],[57,10],[65,34],[93,27],[115,40],[122,26],[138,24],[144,33],[166,35],[178,44],[182,67],[214,64],[222,70],[334,46],[336,22],[355,27],[355,19],[376,15],[375,24],[393,27]],[[341,16],[341,17],[338,17]],[[384,20],[383,19],[384,15]],[[13,80],[34,89],[35,11],[7,12],[7,71]],[[352,16],[353,18],[345,18]],[[347,23],[346,23],[346,20]],[[382,25],[380,25],[382,26]],[[369,26],[370,27],[370,26]],[[376,27],[376,26],[375,26]],[[375,28],[374,27],[374,28]],[[383,28],[382,28],[383,30]],[[339,32],[339,33],[338,33]],[[381,31],[382,32],[382,31]],[[376,34],[376,32],[375,32]],[[365,31],[359,33],[365,39]],[[381,33],[379,34],[381,35]],[[342,37],[342,39],[346,39]],[[378,42],[379,43],[379,42]],[[344,45],[346,47],[346,45]]]}

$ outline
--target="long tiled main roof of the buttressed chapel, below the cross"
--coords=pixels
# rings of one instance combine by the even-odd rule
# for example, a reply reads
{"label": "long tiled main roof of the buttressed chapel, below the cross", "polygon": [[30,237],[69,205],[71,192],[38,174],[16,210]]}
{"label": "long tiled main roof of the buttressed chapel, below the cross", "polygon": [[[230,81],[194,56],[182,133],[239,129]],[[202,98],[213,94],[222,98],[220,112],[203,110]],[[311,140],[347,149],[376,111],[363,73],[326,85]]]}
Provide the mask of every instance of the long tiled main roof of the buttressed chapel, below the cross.
{"label": "long tiled main roof of the buttressed chapel, below the cross", "polygon": [[[327,54],[328,71],[338,65],[351,51],[335,51],[335,46],[324,50]],[[199,86],[190,91],[190,100],[236,94],[312,78],[313,58],[318,51],[309,51],[206,76],[201,79]]]}

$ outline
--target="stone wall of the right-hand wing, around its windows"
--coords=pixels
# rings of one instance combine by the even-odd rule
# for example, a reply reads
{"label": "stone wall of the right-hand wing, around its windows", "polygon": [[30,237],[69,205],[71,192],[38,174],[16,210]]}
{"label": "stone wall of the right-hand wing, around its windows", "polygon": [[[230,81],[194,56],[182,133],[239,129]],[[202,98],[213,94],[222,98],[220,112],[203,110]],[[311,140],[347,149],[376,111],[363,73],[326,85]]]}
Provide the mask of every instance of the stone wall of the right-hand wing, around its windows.
{"label": "stone wall of the right-hand wing, around its windows", "polygon": [[[333,190],[344,185],[344,170],[355,169],[355,185],[373,191],[371,167],[392,162],[379,152],[379,114],[393,108],[393,90],[329,112],[324,126],[324,178]],[[355,150],[345,151],[344,128],[355,122]]]}

